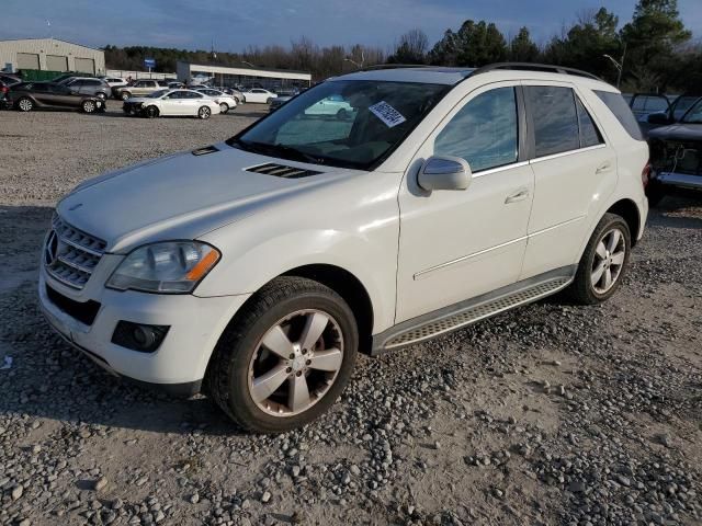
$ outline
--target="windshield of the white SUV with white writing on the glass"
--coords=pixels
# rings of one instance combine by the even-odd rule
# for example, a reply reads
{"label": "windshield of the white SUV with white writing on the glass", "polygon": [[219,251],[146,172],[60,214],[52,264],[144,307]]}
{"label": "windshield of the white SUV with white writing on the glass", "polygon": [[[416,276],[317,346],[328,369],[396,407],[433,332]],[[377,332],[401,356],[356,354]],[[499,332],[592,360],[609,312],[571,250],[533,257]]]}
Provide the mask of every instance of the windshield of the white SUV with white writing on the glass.
{"label": "windshield of the white SUV with white writing on the glass", "polygon": [[292,99],[227,144],[284,159],[369,170],[384,160],[451,88],[327,81]]}

